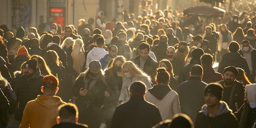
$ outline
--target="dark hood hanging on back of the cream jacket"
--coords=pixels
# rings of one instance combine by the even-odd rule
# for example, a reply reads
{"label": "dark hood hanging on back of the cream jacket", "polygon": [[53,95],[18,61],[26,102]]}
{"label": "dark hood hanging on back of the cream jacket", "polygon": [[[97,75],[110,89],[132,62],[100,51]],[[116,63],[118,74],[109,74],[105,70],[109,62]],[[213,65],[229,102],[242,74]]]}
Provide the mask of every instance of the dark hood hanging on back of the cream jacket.
{"label": "dark hood hanging on back of the cream jacket", "polygon": [[150,88],[148,91],[157,99],[162,100],[165,95],[171,91],[171,88],[168,85],[154,85],[153,88]]}

